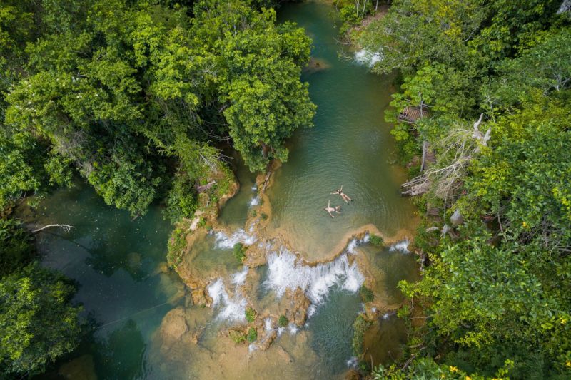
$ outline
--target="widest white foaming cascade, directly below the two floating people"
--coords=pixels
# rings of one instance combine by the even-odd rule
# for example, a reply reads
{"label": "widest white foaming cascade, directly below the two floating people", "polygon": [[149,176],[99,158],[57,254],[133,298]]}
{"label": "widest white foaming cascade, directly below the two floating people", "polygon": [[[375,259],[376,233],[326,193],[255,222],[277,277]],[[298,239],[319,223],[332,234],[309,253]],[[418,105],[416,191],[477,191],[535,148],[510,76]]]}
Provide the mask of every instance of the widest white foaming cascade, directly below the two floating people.
{"label": "widest white foaming cascade, directly below the two floating people", "polygon": [[302,289],[313,304],[320,304],[328,296],[330,287],[338,284],[350,292],[357,292],[365,281],[357,262],[350,265],[347,255],[333,262],[315,266],[304,265],[285,248],[268,255],[268,279],[264,284],[282,297],[287,289]]}

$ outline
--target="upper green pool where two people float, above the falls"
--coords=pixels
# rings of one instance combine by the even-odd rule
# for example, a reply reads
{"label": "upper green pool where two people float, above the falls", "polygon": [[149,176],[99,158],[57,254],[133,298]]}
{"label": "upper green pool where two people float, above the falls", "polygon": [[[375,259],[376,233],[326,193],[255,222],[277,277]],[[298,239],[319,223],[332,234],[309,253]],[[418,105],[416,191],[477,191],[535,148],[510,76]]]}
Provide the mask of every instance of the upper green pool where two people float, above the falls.
{"label": "upper green pool where two people float, above the falls", "polygon": [[[332,7],[290,4],[279,16],[305,28],[313,38],[312,56],[324,68],[303,75],[318,106],[315,127],[295,133],[289,160],[276,172],[268,191],[273,226],[295,237],[290,239],[294,249],[320,260],[360,226],[372,223],[386,235],[408,227],[412,207],[400,197],[398,170],[388,163],[393,138],[383,112],[390,102],[390,78],[338,58]],[[339,195],[330,195],[340,185],[354,202],[345,205]],[[323,210],[328,200],[342,206],[335,219]]]}

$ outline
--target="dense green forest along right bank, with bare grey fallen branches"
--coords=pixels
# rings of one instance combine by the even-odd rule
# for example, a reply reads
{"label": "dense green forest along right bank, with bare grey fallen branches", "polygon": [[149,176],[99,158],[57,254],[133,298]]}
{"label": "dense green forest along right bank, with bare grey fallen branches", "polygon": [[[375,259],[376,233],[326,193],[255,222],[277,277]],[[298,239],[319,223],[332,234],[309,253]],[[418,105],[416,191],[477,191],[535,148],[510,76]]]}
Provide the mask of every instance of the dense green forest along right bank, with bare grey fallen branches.
{"label": "dense green forest along right bank, with bare grey fallen branches", "polygon": [[425,323],[378,379],[571,376],[571,26],[560,5],[393,1],[359,36],[383,58],[373,71],[401,73],[387,119],[423,109],[393,135],[407,160],[430,144],[419,204],[448,209],[420,225],[423,278],[400,284],[403,312]]}

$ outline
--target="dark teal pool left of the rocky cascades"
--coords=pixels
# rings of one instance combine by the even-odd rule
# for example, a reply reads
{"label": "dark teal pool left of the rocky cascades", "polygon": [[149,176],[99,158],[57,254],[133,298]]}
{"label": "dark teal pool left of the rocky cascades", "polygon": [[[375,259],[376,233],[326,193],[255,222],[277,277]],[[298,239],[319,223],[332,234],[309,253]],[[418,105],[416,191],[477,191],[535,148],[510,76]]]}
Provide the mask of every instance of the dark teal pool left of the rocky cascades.
{"label": "dark teal pool left of the rocky cascades", "polygon": [[[42,263],[78,282],[74,300],[96,325],[71,359],[87,355],[99,379],[141,376],[153,332],[185,292],[178,276],[161,265],[171,230],[161,210],[151,207],[133,221],[128,212],[105,205],[92,188],[77,183],[22,217],[38,225],[74,226],[69,233],[50,229],[37,235]],[[56,370],[45,377],[59,375]]]}

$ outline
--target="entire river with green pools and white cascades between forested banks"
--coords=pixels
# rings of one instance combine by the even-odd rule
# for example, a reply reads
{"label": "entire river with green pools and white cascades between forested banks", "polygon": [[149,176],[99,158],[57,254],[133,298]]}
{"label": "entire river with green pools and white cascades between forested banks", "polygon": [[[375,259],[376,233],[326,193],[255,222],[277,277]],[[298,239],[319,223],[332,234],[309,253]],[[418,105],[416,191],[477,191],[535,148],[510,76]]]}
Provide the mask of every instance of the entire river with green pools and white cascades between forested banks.
{"label": "entire river with green pools and white cascades between forested banks", "polygon": [[[74,225],[69,233],[39,234],[38,245],[44,265],[79,283],[76,301],[84,304],[93,333],[42,377],[341,379],[355,365],[352,325],[363,311],[357,292],[363,279],[373,279],[375,302],[390,308],[402,302],[398,281],[417,273],[405,244],[345,245],[365,225],[403,239],[410,236],[415,217],[410,202],[399,195],[402,173],[390,163],[394,147],[383,111],[391,80],[338,56],[333,11],[314,2],[278,11],[279,21],[295,21],[313,38],[312,56],[319,67],[305,71],[302,79],[309,83],[318,111],[315,127],[298,130],[288,142],[290,158],[276,170],[267,192],[272,211],[268,235],[281,237],[307,262],[323,264],[292,265],[288,257],[293,260],[293,253],[281,250],[281,255],[268,253],[268,264],[256,269],[238,265],[231,247],[248,238],[258,244],[244,231],[260,199],[255,176],[238,162],[234,169],[241,190],[220,217],[226,230],[237,235],[207,235],[188,259],[209,278],[214,307],[192,305],[190,291],[166,268],[172,227],[160,207],[131,221],[127,212],[105,205],[83,183],[58,190],[25,218],[40,225]],[[340,185],[354,202],[345,205],[330,195]],[[342,206],[335,219],[323,210],[328,200]],[[307,322],[278,329],[275,320],[266,318],[263,334],[276,337],[266,350],[228,339],[228,327],[244,323],[245,302],[270,315],[282,307],[282,293],[296,284],[310,301]],[[241,286],[245,290],[238,291]],[[375,362],[388,362],[405,342],[404,329],[392,314],[380,315],[378,321],[365,340]]]}

